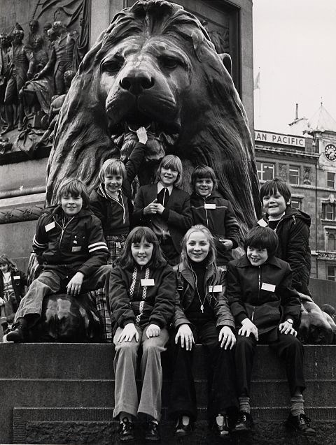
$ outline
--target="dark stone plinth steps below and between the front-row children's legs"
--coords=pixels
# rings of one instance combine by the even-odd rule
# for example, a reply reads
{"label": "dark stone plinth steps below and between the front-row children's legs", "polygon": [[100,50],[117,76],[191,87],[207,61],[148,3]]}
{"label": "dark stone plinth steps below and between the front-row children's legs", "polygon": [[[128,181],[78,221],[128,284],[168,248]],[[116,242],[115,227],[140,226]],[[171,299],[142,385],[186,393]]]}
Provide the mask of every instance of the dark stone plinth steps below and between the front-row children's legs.
{"label": "dark stone plinth steps below and between the front-row children's legs", "polygon": [[[255,433],[258,441],[251,444],[290,445],[283,429],[289,400],[283,366],[267,346],[258,346],[257,350],[251,404],[259,430]],[[309,442],[309,445],[335,445],[336,346],[304,346],[304,351],[307,414],[317,420],[321,429],[320,442]],[[206,359],[204,350],[197,346],[194,371],[200,423],[197,423],[191,442],[183,442],[186,445],[217,443],[216,437],[208,437],[204,423],[207,418],[203,369]],[[113,439],[116,438],[113,432],[116,423],[112,420],[113,345],[0,344],[0,363],[1,444],[9,444],[15,437],[18,438],[15,443],[21,444],[116,443]],[[162,363],[165,367],[162,431],[167,439],[162,443],[168,445],[175,443],[169,442],[174,438],[174,426],[167,421],[166,409],[170,385],[166,369],[169,357],[166,356]],[[20,439],[22,435],[25,439]],[[328,442],[329,437],[335,439],[334,442]],[[297,444],[299,442],[295,442]]]}

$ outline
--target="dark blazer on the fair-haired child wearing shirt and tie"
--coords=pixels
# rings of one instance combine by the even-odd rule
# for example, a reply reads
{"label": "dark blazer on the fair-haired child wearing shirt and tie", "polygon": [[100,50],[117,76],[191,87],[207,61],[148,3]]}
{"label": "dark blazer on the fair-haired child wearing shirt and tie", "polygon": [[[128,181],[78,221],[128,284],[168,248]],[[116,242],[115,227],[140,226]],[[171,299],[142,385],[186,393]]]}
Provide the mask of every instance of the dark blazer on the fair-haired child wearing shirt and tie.
{"label": "dark blazer on the fair-haired child wearing shirt and tie", "polygon": [[[134,201],[133,222],[135,226],[148,226],[152,228],[151,215],[144,216],[144,208],[158,196],[158,184],[149,184],[140,187]],[[182,189],[173,187],[172,194],[165,210],[160,215],[167,222],[169,233],[176,251],[181,254],[181,240],[186,231],[193,225],[190,209],[190,196]]]}

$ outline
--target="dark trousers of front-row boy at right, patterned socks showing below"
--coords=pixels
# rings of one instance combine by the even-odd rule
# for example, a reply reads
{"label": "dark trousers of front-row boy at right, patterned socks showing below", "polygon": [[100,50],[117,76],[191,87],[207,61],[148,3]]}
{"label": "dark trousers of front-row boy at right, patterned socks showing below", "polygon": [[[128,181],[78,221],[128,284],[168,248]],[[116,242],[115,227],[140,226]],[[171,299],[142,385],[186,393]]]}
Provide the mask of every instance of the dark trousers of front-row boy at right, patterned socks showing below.
{"label": "dark trousers of front-row boy at right, patterned socks showing below", "polygon": [[[299,387],[305,388],[303,375],[303,346],[300,340],[289,334],[278,334],[278,340],[267,342],[267,339],[259,337],[258,344],[269,344],[277,355],[285,361],[286,374],[290,388],[290,395]],[[253,335],[243,337],[237,335],[235,348],[235,361],[237,369],[237,391],[239,396],[250,396],[251,374],[255,348],[257,342]]]}

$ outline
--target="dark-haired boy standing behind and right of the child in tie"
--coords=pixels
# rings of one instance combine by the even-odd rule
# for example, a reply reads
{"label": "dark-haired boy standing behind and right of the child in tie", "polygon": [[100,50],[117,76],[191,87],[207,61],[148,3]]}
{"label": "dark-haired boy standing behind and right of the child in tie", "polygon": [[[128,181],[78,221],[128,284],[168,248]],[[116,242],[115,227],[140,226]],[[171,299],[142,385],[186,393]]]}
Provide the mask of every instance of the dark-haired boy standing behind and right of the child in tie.
{"label": "dark-haired boy standing behind and right of the child in tie", "polygon": [[227,265],[233,259],[232,249],[239,243],[239,225],[232,204],[216,190],[218,180],[211,167],[197,166],[191,175],[191,184],[193,224],[209,228],[215,240],[217,264]]}

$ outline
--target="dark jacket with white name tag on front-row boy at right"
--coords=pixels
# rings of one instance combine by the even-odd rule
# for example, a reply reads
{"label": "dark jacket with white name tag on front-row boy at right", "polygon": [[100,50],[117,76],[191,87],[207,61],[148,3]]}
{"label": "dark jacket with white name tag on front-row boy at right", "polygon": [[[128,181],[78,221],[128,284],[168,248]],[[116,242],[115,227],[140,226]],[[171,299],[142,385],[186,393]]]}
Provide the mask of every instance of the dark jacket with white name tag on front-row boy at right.
{"label": "dark jacket with white name tag on front-row boy at right", "polygon": [[[251,265],[246,254],[230,261],[226,295],[236,324],[240,326],[246,318],[255,323],[253,308],[260,307],[265,307],[267,311],[277,309],[279,315],[274,319],[273,328],[286,319],[297,323],[301,304],[297,291],[292,287],[292,275],[290,265],[275,256],[260,266]],[[256,311],[260,313],[260,309]],[[262,320],[265,321],[265,314],[262,314]],[[258,323],[256,326],[262,327]]]}

